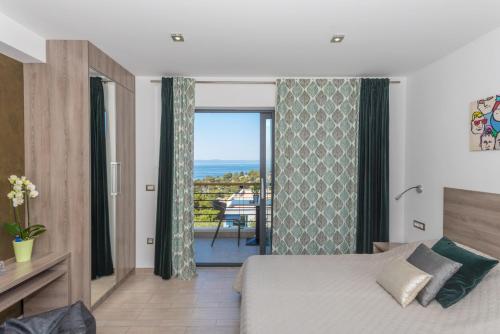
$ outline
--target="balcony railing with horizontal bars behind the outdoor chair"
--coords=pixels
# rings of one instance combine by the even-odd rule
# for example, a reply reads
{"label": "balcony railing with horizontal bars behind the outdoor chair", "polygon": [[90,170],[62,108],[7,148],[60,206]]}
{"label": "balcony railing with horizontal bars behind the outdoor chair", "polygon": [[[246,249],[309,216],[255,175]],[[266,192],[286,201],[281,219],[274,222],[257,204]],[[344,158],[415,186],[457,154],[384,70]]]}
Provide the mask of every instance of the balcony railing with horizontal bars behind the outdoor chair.
{"label": "balcony railing with horizontal bars behind the outdoor chair", "polygon": [[[194,182],[194,227],[215,229],[222,219],[221,228],[231,229],[235,219],[254,229],[257,222],[259,183]],[[214,201],[226,204],[224,212],[214,207]]]}

